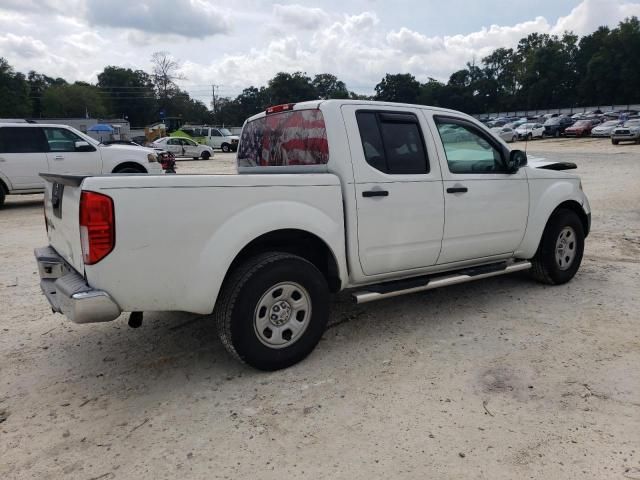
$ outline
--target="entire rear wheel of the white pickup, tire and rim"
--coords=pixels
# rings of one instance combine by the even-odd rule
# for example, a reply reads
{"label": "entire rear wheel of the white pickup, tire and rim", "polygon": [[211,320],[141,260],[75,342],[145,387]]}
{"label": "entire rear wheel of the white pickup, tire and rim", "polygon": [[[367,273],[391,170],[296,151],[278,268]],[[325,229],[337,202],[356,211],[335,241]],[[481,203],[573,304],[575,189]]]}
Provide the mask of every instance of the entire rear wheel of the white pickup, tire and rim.
{"label": "entire rear wheel of the white pickup, tire and rim", "polygon": [[225,348],[259,370],[289,367],[309,355],[329,318],[329,289],[302,257],[257,255],[236,268],[214,310]]}

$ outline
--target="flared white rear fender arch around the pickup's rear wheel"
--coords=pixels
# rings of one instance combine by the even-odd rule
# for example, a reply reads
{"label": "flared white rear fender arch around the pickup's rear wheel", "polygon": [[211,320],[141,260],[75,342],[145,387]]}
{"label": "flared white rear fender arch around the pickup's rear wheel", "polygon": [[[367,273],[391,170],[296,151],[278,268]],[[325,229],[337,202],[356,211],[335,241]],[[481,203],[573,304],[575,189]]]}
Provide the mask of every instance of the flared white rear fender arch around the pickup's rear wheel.
{"label": "flared white rear fender arch around the pickup's rear wheel", "polygon": [[[294,218],[296,223],[292,224]],[[227,271],[240,251],[256,238],[284,229],[303,230],[323,240],[336,259],[342,284],[347,283],[342,205],[336,208],[336,215],[329,216],[307,203],[271,201],[238,212],[216,229],[200,252],[194,281],[185,291],[186,303],[194,311],[211,313]]]}

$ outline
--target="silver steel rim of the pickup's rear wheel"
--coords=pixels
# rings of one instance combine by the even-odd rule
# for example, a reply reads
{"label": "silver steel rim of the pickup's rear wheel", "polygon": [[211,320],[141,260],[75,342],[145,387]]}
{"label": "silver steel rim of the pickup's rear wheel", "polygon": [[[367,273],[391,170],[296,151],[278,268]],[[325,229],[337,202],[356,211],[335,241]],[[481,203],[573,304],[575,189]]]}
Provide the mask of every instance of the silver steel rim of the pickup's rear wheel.
{"label": "silver steel rim of the pickup's rear wheel", "polygon": [[297,342],[311,320],[311,296],[299,284],[282,282],[260,298],[253,326],[260,342],[269,348],[285,348]]}

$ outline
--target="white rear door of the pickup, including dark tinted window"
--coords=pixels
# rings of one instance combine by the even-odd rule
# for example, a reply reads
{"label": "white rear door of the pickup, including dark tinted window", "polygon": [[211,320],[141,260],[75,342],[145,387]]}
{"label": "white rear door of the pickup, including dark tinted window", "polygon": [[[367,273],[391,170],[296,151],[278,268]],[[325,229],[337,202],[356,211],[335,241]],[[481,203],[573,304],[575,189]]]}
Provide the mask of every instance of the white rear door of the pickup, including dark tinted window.
{"label": "white rear door of the pickup, including dark tinted window", "polygon": [[444,200],[437,159],[417,109],[342,107],[353,162],[358,256],[365,275],[434,265]]}

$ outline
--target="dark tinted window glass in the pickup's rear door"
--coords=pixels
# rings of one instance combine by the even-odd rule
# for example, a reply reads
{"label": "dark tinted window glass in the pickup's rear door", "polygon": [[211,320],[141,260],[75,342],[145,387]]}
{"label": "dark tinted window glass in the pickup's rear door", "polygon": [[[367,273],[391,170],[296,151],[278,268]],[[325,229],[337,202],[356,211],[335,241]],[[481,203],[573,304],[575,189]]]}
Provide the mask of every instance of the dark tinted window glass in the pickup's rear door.
{"label": "dark tinted window glass in the pickup's rear door", "polygon": [[413,114],[357,112],[367,163],[389,174],[429,173],[418,119]]}

